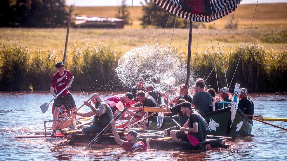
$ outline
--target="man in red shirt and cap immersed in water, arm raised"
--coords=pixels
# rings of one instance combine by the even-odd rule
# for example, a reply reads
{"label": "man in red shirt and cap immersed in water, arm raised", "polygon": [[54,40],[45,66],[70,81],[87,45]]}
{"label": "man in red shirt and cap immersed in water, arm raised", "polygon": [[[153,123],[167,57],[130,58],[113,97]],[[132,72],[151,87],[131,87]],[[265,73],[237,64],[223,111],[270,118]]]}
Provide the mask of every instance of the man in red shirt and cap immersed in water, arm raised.
{"label": "man in red shirt and cap immersed in water, arm raised", "polygon": [[122,140],[119,137],[119,134],[116,132],[115,121],[112,119],[111,126],[113,129],[114,139],[118,144],[120,144],[121,148],[128,152],[144,152],[147,150],[147,147],[142,141],[137,141],[137,132],[131,130],[128,131],[126,139],[127,141]]}

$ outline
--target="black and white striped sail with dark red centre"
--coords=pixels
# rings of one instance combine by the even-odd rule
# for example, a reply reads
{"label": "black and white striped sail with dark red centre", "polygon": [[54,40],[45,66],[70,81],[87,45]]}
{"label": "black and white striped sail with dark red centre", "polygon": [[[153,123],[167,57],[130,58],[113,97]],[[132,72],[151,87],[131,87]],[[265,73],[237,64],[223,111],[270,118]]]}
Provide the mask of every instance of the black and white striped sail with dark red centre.
{"label": "black and white striped sail with dark red centre", "polygon": [[241,0],[152,0],[168,12],[196,22],[212,22],[232,13]]}

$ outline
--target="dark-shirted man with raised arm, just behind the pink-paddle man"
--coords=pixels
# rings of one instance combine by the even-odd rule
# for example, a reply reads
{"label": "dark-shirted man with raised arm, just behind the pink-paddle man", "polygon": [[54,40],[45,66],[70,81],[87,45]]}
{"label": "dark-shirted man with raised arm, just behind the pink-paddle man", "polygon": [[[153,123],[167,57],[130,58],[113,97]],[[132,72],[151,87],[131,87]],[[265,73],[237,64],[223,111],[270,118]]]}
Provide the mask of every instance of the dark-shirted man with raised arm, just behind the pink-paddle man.
{"label": "dark-shirted man with raised arm, just behind the pink-paddle man", "polygon": [[[187,115],[183,115],[181,112],[181,103],[185,102],[185,99],[180,98],[178,99],[177,104],[174,107],[168,107],[168,100],[164,99],[164,102],[166,104],[166,111],[171,113],[171,112],[177,112],[178,113],[178,118],[179,118],[179,125],[183,126],[187,120],[188,120],[188,116]],[[171,130],[179,130],[180,128],[178,126],[174,126],[171,128],[167,128],[163,131],[163,134],[167,134],[170,135],[170,131]]]}

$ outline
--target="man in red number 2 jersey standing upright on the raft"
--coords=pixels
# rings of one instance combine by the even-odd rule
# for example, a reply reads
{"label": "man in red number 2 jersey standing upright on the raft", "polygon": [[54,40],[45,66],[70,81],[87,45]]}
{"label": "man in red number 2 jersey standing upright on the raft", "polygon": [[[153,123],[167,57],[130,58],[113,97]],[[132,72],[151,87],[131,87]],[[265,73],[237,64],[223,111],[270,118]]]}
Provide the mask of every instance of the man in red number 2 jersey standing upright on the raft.
{"label": "man in red number 2 jersey standing upright on the raft", "polygon": [[[55,96],[54,106],[55,106],[55,112],[53,115],[53,118],[58,118],[60,107],[62,105],[65,106],[66,110],[71,110],[71,112],[74,112],[76,108],[76,103],[74,101],[73,96],[71,95],[69,89],[66,89],[63,91],[59,96],[57,94],[62,91],[66,86],[71,87],[72,82],[74,80],[73,74],[69,70],[65,70],[64,63],[62,61],[55,64],[55,67],[58,69],[58,72],[55,72],[55,74],[52,77],[52,83],[51,83],[51,93]],[[68,83],[68,79],[70,79],[70,82]],[[72,117],[72,125],[69,126],[70,130],[77,130],[73,123],[74,123],[75,115]],[[56,128],[57,128],[57,121],[53,122],[51,130],[52,136],[56,134]]]}

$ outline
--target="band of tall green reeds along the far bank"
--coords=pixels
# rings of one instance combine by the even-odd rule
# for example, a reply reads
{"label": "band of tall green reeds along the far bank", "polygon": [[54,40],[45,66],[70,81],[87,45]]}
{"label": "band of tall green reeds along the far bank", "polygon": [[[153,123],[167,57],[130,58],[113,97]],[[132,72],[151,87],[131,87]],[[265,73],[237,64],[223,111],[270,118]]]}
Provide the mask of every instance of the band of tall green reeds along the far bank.
{"label": "band of tall green reeds along the far bank", "polygon": [[[49,90],[51,78],[57,71],[55,62],[62,61],[62,51],[30,52],[25,46],[0,44],[0,91]],[[65,68],[70,70],[75,79],[71,91],[118,91],[125,90],[115,74],[117,61],[122,53],[106,45],[89,45],[73,47],[67,52]],[[287,51],[272,53],[264,47],[253,43],[243,48],[242,45],[222,53],[227,82],[233,77],[230,90],[238,82],[250,92],[287,91]],[[192,71],[206,79],[214,67],[214,60],[219,53],[206,50],[196,54]],[[192,58],[191,62],[194,61]],[[152,62],[152,61],[151,61]],[[221,59],[216,72],[219,88],[227,86]],[[206,81],[217,91],[215,70]]]}

